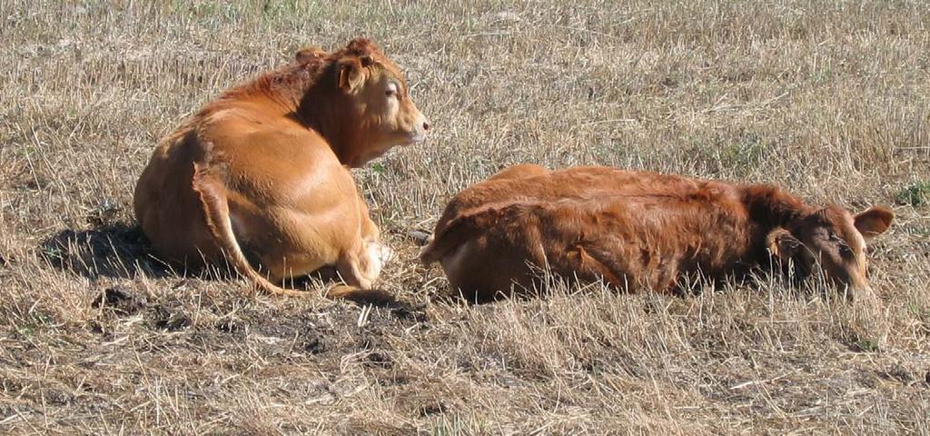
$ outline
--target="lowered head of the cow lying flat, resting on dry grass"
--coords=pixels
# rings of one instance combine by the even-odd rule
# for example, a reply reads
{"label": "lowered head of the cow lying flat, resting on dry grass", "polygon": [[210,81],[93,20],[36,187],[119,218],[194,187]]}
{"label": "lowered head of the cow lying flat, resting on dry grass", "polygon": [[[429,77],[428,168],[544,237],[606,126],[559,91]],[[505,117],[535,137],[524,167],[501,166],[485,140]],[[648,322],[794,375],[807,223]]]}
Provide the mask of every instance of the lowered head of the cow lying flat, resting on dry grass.
{"label": "lowered head of the cow lying flat, resting on dry grass", "polygon": [[872,207],[853,216],[831,205],[799,219],[790,229],[777,228],[767,237],[768,249],[784,264],[790,260],[802,276],[816,271],[839,286],[849,286],[850,297],[871,294],[866,244],[891,226],[894,214]]}

